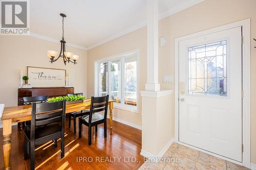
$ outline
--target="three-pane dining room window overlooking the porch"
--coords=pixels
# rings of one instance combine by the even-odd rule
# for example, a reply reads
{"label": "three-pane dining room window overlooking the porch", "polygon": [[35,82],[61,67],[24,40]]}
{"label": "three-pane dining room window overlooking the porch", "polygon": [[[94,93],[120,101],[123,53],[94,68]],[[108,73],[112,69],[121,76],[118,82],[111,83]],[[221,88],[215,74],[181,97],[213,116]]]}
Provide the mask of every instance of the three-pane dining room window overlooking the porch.
{"label": "three-pane dining room window overlooking the porch", "polygon": [[110,95],[117,107],[137,110],[138,52],[129,52],[95,63],[98,96]]}

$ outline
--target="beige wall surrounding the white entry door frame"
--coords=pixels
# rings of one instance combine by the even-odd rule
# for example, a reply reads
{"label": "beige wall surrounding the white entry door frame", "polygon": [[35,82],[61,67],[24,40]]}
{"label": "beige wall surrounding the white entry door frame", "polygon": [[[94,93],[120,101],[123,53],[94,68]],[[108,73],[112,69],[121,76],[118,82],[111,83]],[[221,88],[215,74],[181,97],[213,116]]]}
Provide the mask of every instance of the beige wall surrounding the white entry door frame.
{"label": "beige wall surrounding the white entry door frame", "polygon": [[[174,39],[176,37],[251,18],[251,162],[256,163],[256,1],[206,0],[194,7],[159,21],[159,37],[167,37],[167,45],[159,48],[159,80],[174,75]],[[164,68],[164,69],[163,69]],[[169,88],[161,83],[162,88]],[[170,87],[174,88],[174,85]]]}

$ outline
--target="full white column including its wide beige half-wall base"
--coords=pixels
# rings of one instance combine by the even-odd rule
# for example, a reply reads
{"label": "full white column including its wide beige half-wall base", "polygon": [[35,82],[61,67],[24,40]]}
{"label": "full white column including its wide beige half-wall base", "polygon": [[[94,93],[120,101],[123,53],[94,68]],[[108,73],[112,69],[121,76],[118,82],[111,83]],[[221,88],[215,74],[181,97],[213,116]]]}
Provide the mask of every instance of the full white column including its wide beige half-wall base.
{"label": "full white column including its wide beige half-wall base", "polygon": [[142,148],[147,158],[162,157],[172,144],[172,90],[158,83],[158,0],[147,0],[147,82],[141,91]]}

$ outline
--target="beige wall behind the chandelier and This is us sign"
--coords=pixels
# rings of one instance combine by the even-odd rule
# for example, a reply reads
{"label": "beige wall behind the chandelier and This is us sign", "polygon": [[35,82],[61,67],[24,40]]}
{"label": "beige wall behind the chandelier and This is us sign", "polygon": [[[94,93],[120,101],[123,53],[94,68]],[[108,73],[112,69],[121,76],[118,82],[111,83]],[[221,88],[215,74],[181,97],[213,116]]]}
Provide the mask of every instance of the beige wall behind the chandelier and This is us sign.
{"label": "beige wall behind the chandelier and This is us sign", "polygon": [[30,36],[0,36],[0,103],[17,105],[19,70],[27,74],[27,66],[66,69],[75,92],[87,94],[87,52],[66,46],[80,56],[78,64],[50,63],[47,50],[60,50],[60,44]]}

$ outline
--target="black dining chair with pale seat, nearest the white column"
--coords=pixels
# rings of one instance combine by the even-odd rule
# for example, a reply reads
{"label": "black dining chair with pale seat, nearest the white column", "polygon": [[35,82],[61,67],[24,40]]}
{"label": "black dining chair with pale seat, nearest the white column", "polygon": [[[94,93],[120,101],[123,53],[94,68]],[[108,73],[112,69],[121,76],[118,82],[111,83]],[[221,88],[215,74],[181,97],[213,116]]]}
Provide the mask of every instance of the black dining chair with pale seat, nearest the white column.
{"label": "black dining chair with pale seat, nearest the white column", "polygon": [[[109,95],[97,97],[92,96],[90,114],[79,117],[79,138],[81,138],[82,124],[88,126],[89,136],[88,143],[92,144],[92,127],[95,126],[95,132],[97,132],[97,126],[104,124],[104,137],[106,137],[106,114],[108,113]],[[98,112],[104,111],[104,116]]]}

